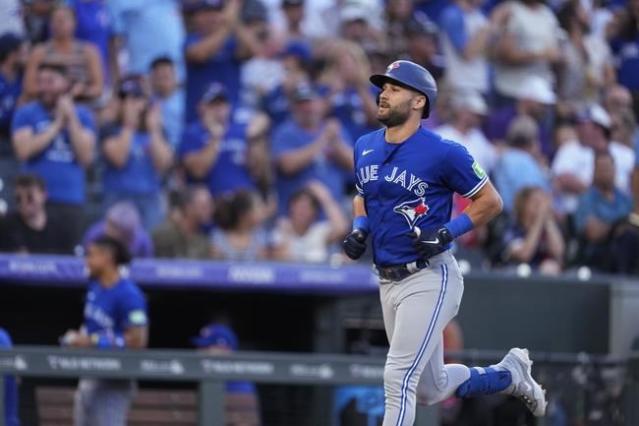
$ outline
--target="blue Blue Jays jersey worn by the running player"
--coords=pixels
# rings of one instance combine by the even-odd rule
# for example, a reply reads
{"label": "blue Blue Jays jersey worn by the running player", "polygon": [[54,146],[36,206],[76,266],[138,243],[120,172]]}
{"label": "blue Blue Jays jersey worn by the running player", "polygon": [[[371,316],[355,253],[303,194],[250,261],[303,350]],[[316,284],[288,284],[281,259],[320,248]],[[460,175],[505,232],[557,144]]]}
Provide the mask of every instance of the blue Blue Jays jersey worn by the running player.
{"label": "blue Blue Jays jersey worn by the running player", "polygon": [[472,197],[488,181],[462,145],[419,128],[401,144],[385,130],[355,145],[357,190],[364,198],[377,265],[419,259],[407,235],[414,226],[434,231],[450,220],[453,194]]}

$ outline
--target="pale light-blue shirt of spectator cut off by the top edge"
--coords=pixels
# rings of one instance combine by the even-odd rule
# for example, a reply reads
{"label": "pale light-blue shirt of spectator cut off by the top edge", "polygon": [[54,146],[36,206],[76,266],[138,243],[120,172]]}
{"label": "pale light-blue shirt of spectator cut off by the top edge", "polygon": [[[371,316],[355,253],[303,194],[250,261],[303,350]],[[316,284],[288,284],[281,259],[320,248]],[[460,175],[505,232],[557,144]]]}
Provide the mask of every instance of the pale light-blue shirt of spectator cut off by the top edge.
{"label": "pale light-blue shirt of spectator cut off by the top edge", "polygon": [[[125,74],[146,74],[151,62],[168,56],[175,64],[179,80],[184,79],[184,25],[178,0],[109,0],[115,46],[123,48],[128,61]],[[110,68],[117,72],[118,55]],[[117,80],[118,74],[113,74]]]}

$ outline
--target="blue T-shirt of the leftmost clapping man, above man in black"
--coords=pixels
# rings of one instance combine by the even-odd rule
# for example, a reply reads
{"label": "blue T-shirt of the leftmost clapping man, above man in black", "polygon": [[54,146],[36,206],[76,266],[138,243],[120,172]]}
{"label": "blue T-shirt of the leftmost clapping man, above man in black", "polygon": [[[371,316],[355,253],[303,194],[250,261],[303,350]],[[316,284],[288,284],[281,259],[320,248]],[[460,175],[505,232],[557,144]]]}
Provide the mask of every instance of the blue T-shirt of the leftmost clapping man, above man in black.
{"label": "blue T-shirt of the leftmost clapping man, above man in black", "polygon": [[[75,107],[82,126],[93,131],[91,112],[83,107]],[[34,134],[45,131],[53,121],[53,116],[39,102],[31,102],[18,108],[13,116],[12,132],[31,128]],[[47,184],[49,200],[68,204],[84,203],[84,169],[77,162],[75,151],[66,130],[63,130],[38,155],[27,160],[23,169],[42,177]]]}

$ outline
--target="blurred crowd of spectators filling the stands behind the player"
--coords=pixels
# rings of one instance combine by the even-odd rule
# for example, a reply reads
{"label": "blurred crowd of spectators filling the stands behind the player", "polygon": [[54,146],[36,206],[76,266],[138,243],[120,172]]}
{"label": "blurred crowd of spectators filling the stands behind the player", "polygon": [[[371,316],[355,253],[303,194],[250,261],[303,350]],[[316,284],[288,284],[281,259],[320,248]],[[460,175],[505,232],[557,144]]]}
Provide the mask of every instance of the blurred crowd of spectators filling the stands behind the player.
{"label": "blurred crowd of spectators filling the stands behind the player", "polygon": [[140,257],[344,262],[368,76],[409,59],[439,84],[424,126],[504,199],[458,250],[639,273],[637,0],[4,3],[2,251],[106,234]]}

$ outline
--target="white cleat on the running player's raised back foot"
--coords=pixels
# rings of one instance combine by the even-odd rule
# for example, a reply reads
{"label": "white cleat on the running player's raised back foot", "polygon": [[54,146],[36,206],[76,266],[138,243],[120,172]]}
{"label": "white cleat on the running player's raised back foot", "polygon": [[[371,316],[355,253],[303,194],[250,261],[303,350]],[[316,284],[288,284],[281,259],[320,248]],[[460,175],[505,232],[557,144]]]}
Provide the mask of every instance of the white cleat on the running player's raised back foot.
{"label": "white cleat on the running player's raised back foot", "polygon": [[512,348],[497,366],[510,371],[512,377],[512,384],[504,393],[519,398],[534,416],[546,414],[546,391],[531,375],[532,361],[528,349]]}

